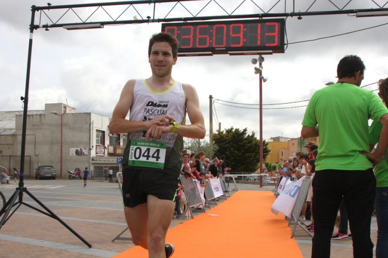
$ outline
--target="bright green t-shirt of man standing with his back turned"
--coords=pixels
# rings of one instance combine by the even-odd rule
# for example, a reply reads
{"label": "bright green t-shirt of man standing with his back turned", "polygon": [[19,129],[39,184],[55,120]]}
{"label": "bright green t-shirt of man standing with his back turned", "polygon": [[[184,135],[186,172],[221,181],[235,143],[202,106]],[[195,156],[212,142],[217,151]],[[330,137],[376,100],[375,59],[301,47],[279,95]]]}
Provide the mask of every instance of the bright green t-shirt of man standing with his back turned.
{"label": "bright green t-shirt of man standing with his back turned", "polygon": [[366,170],[372,167],[368,120],[379,121],[387,107],[372,91],[350,83],[335,83],[316,91],[308,103],[304,126],[319,126],[316,171]]}

